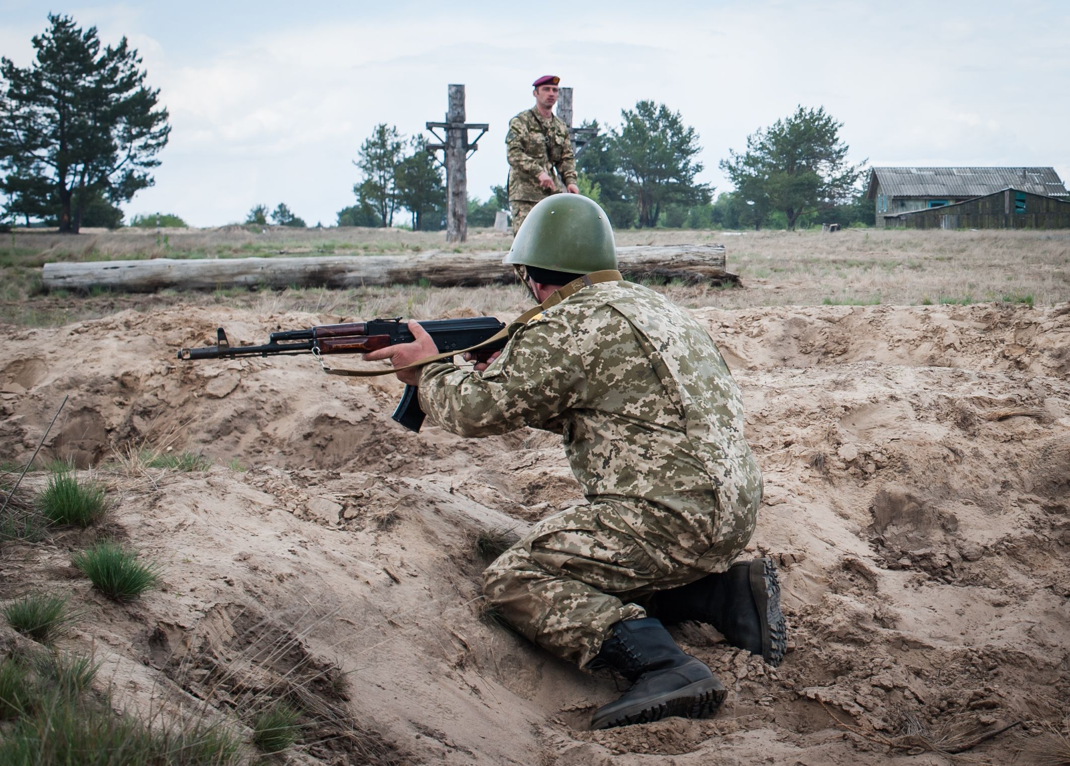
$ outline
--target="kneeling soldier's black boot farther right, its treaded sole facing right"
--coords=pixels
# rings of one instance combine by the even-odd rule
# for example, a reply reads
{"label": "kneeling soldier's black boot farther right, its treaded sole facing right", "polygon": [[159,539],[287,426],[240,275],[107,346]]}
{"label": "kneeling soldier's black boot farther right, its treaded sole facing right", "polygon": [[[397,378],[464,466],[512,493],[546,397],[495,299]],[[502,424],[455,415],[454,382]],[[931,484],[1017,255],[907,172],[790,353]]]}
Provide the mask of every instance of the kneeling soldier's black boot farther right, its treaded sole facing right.
{"label": "kneeling soldier's black boot farther right, its treaded sole facing right", "polygon": [[780,664],[788,648],[780,579],[771,558],[736,562],[725,572],[659,591],[651,614],[669,625],[685,619],[708,623],[730,644],[761,655],[773,667]]}

